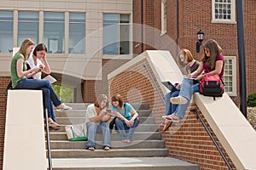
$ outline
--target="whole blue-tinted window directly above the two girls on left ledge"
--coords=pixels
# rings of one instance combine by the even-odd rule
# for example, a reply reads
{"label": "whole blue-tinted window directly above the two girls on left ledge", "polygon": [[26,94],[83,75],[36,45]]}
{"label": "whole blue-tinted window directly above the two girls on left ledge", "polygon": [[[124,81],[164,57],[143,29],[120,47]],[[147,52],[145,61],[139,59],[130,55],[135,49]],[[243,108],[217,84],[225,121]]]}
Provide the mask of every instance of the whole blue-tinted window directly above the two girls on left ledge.
{"label": "whole blue-tinted window directly above the two girls on left ledge", "polygon": [[19,11],[18,13],[18,47],[26,38],[38,44],[39,29],[38,12]]}

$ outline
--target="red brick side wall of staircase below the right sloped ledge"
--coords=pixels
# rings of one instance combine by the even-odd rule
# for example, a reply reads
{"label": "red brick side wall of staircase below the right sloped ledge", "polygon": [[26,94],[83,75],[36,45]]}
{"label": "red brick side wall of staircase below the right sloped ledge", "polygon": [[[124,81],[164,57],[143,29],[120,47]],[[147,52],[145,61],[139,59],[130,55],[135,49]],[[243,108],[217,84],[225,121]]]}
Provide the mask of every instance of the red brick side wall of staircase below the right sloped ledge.
{"label": "red brick side wall of staircase below the right sloped ledge", "polygon": [[[149,77],[144,65],[148,65],[146,60],[113,77],[109,81],[109,95],[121,94],[124,101],[131,104],[147,103],[156,124],[161,130],[160,124],[164,121],[161,116],[165,115],[165,105],[160,99],[160,94],[163,94],[162,92],[158,94],[156,88],[154,88],[154,82]],[[153,73],[149,66],[148,69]],[[196,163],[201,167],[201,170],[228,169],[201,122],[193,112],[189,112],[192,108],[198,109],[196,105],[191,105],[183,122],[173,123],[169,131],[162,133],[162,138],[166,141],[166,148],[169,149],[169,156]],[[208,123],[207,127],[209,127]],[[209,128],[212,132],[211,127]],[[213,132],[212,134],[218,142],[215,134]],[[230,157],[227,156],[224,148],[221,144],[219,145],[230,161]],[[233,169],[236,169],[232,161],[230,161],[230,164]]]}

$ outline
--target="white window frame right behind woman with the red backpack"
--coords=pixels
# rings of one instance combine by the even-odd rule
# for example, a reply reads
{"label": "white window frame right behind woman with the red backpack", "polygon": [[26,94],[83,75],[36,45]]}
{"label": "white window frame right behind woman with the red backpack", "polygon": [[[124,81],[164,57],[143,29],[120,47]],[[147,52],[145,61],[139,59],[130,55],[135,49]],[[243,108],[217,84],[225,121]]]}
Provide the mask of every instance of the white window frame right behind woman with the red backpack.
{"label": "white window frame right behind woman with the red backpack", "polygon": [[[237,96],[237,92],[236,92],[236,56],[224,56],[224,59],[230,59],[231,60],[231,65],[232,65],[232,75],[227,75],[227,76],[232,76],[232,91],[231,92],[226,92],[227,94],[229,94],[230,96]],[[224,71],[225,72],[225,71]],[[225,74],[224,74],[225,77]]]}

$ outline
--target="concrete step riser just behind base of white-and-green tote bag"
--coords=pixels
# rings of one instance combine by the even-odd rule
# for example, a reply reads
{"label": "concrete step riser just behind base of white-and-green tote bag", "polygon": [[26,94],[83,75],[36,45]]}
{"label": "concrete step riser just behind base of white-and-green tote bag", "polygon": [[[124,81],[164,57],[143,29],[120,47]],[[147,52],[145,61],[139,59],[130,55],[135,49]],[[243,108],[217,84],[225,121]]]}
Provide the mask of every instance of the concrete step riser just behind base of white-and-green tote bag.
{"label": "concrete step riser just behind base of white-and-green tote bag", "polygon": [[[67,141],[67,134],[65,132],[50,132],[49,133],[50,140],[66,140]],[[119,140],[120,135],[119,133],[111,133],[111,140]],[[134,140],[160,140],[161,134],[159,132],[135,132],[133,135]],[[102,140],[102,134],[96,134],[96,140]]]}

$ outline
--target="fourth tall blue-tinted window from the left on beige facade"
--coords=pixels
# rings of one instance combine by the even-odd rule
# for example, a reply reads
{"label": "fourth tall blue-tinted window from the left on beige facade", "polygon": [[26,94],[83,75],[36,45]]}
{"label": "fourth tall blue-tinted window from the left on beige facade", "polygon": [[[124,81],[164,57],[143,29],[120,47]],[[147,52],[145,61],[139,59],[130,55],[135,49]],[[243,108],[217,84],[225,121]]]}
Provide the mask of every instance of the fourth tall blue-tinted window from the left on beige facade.
{"label": "fourth tall blue-tinted window from the left on beige facade", "polygon": [[69,54],[85,54],[85,14],[69,14]]}

